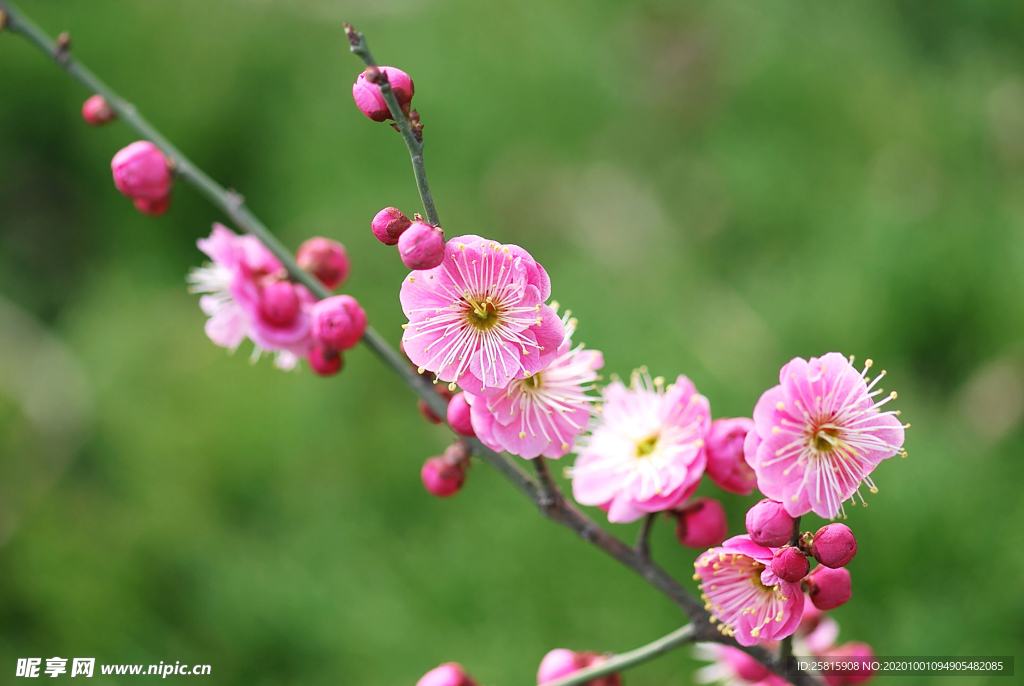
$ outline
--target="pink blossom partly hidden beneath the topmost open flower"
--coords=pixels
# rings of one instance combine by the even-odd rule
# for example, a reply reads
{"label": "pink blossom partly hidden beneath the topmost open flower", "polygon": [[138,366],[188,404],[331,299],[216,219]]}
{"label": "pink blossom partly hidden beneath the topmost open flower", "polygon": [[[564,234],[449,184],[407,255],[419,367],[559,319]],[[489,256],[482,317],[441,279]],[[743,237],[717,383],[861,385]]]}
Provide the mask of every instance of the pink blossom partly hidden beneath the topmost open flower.
{"label": "pink blossom partly hidden beneath the topmost open flower", "polygon": [[572,347],[575,319],[563,318],[565,340],[544,370],[508,387],[475,394],[466,392],[473,431],[495,451],[526,460],[560,458],[590,422],[593,398],[587,391],[597,381],[604,358],[583,345]]}

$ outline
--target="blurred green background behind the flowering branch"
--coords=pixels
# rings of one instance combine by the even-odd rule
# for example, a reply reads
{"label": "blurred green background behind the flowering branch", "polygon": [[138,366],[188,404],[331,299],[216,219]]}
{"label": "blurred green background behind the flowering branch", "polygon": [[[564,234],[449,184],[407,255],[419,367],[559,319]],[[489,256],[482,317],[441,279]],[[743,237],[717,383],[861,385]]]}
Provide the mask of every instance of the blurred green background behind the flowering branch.
{"label": "blurred green background behind the flowering branch", "polygon": [[[418,200],[351,101],[346,19],[416,80],[449,235],[527,247],[606,372],[686,374],[737,416],[793,356],[873,357],[913,428],[851,511],[841,638],[1024,654],[1021,3],[22,4],[287,244],[342,241],[344,291],[395,342],[404,271],[369,223]],[[485,465],[426,495],[449,435],[369,351],[325,381],[213,346],[184,275],[223,217],[184,186],[136,213],[109,169],[134,136],[87,127],[87,95],[0,35],[0,673],[400,686],[459,660],[513,686],[551,648],[680,626]],[[755,497],[724,500],[740,532]],[[655,557],[689,584],[670,529]]]}

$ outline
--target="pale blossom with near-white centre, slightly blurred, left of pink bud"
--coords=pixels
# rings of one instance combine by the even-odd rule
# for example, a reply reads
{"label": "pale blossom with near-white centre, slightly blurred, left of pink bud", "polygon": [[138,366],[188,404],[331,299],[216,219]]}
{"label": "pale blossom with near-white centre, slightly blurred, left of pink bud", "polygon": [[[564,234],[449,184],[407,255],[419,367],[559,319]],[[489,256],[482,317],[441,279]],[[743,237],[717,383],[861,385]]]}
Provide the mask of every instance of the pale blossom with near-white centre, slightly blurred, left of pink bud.
{"label": "pale blossom with near-white centre, slightly blurred, left of pink bud", "polygon": [[707,460],[708,398],[684,376],[665,388],[643,369],[629,387],[615,381],[602,395],[597,426],[570,470],[577,501],[605,509],[608,521],[629,522],[693,495]]}

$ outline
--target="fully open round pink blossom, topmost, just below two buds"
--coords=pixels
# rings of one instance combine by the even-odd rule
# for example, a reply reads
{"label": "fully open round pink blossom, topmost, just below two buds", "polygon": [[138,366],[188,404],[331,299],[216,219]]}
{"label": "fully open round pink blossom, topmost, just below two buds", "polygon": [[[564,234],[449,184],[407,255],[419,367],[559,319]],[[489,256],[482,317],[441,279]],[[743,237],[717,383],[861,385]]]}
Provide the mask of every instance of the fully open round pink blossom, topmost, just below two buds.
{"label": "fully open round pink blossom, topmost, just below two buds", "polygon": [[537,374],[565,338],[547,272],[518,246],[452,239],[441,263],[401,285],[402,346],[439,380],[483,393]]}

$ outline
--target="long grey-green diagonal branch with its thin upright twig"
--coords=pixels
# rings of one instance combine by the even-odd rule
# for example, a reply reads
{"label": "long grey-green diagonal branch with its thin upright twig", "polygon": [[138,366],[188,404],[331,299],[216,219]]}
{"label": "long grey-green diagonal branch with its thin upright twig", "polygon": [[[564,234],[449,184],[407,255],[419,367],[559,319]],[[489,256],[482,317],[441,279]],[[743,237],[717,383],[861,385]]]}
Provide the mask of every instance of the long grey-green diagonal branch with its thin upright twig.
{"label": "long grey-green diagonal branch with its thin upright twig", "polygon": [[[224,188],[200,170],[188,158],[186,158],[156,128],[154,128],[153,125],[151,125],[137,112],[134,105],[123,99],[106,84],[93,75],[92,72],[86,69],[78,60],[74,59],[68,53],[67,49],[58,49],[57,44],[54,43],[53,40],[51,40],[42,30],[36,27],[35,24],[28,19],[24,14],[19,11],[15,11],[14,7],[6,0],[0,0],[0,16],[3,16],[6,20],[6,26],[3,28],[10,31],[10,33],[17,34],[28,39],[30,43],[53,58],[57,67],[67,72],[72,78],[84,85],[91,92],[102,95],[111,108],[118,113],[120,118],[129,127],[160,147],[168,159],[173,161],[178,176],[193,185],[214,206],[222,210],[242,229],[259,238],[260,241],[263,242],[263,244],[274,254],[274,256],[281,260],[282,264],[285,265],[295,281],[308,288],[309,291],[317,298],[326,298],[331,295],[331,292],[324,288],[324,286],[316,281],[315,277],[299,268],[299,266],[295,263],[291,252],[285,248],[280,241],[278,241],[270,230],[261,221],[259,221],[255,215],[253,215],[253,213],[245,205],[245,201],[242,196],[233,190]],[[361,39],[360,37],[359,40],[362,45],[362,54],[360,54],[360,56],[364,56],[365,61],[368,58],[370,59],[368,65],[372,63],[373,57],[369,56],[369,50],[366,50],[365,39]],[[354,45],[353,52],[359,54],[359,52],[354,49]],[[392,113],[395,113],[396,111],[400,113],[400,109],[397,108],[397,100],[394,98],[394,93],[391,92],[389,96],[389,87],[381,85],[381,92],[388,101],[388,105],[391,108]],[[396,121],[398,122],[399,129],[403,130],[403,136],[406,136],[407,144],[410,145],[411,154],[416,151],[422,153],[422,143],[416,138],[415,133],[412,132],[412,128],[409,126],[409,121],[403,118],[399,118]],[[404,122],[406,126],[402,125],[402,122]],[[406,135],[406,129],[409,131],[409,136]],[[417,146],[413,145],[414,142]],[[429,190],[427,190],[426,176],[422,164],[422,155],[419,155],[419,161],[417,161],[417,155],[413,155],[413,167],[417,174],[417,186],[421,188],[424,209],[427,212],[427,216],[431,217],[431,223],[436,223],[437,215],[436,211],[433,209],[433,201],[430,198]],[[403,359],[393,348],[391,348],[391,346],[387,344],[379,333],[368,327],[366,334],[364,334],[362,342],[366,343],[381,358],[381,360],[397,373],[398,376],[406,381],[410,388],[412,388],[417,395],[419,395],[431,408],[431,410],[440,416],[444,415],[446,411],[445,402],[443,398],[434,392],[431,382],[425,377],[416,374],[407,360]],[[466,442],[473,454],[477,455],[498,469],[499,472],[501,472],[538,507],[544,516],[552,521],[566,526],[570,530],[574,531],[584,541],[601,549],[611,558],[633,569],[654,589],[678,605],[692,620],[692,631],[696,639],[703,641],[716,641],[738,647],[777,674],[783,674],[783,666],[778,663],[777,659],[769,651],[758,646],[739,646],[735,640],[722,636],[710,623],[710,614],[703,608],[702,603],[693,597],[693,595],[691,595],[686,589],[684,589],[671,574],[654,564],[649,558],[642,555],[633,547],[628,546],[611,533],[605,531],[593,519],[583,514],[572,503],[569,503],[564,498],[558,497],[557,487],[555,487],[554,482],[550,480],[551,477],[550,474],[547,474],[546,465],[540,469],[544,470],[544,474],[548,479],[547,497],[545,496],[545,490],[542,485],[526,474],[508,455],[496,453],[487,448],[476,438],[466,439]],[[539,464],[544,465],[543,462]],[[545,477],[542,475],[541,478],[544,479]],[[554,501],[553,503],[549,503],[548,501],[548,498],[551,495],[555,496],[552,499]],[[625,668],[620,667],[618,669]],[[786,678],[797,686],[818,686],[814,679],[801,672],[794,673],[791,671]]]}

